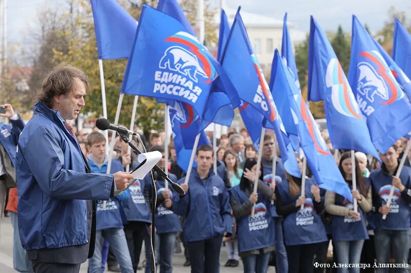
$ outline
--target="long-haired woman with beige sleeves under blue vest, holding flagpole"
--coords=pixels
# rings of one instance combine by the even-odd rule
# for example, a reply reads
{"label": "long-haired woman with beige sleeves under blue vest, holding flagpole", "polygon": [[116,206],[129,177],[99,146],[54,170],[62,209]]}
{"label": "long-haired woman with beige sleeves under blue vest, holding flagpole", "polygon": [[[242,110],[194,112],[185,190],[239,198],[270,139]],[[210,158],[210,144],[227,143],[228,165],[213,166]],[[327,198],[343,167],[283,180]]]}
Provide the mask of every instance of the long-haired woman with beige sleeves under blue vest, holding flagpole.
{"label": "long-haired woman with beige sleeves under blue vest, holding flagpole", "polygon": [[[369,180],[363,177],[358,161],[356,168],[351,167],[351,155],[342,154],[339,169],[348,186],[352,188],[353,176],[356,176],[358,190],[352,190],[352,195],[358,200],[358,211],[354,211],[353,205],[343,196],[327,191],[325,194],[325,210],[334,215],[331,224],[331,237],[333,246],[337,250],[337,262],[339,264],[360,263],[361,250],[364,240],[368,240],[368,232],[365,223],[365,214],[371,211],[371,187]],[[355,173],[352,173],[355,170]],[[348,268],[339,267],[338,272],[348,272]],[[360,272],[360,268],[352,268],[350,272]]]}

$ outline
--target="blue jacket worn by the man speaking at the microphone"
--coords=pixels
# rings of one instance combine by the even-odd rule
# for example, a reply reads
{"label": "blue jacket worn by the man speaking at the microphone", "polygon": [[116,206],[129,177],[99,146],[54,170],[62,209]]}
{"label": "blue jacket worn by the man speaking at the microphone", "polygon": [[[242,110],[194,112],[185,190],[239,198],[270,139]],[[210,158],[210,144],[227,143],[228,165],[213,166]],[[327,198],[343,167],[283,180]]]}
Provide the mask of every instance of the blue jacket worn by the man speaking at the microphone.
{"label": "blue jacket worn by the man speaking at the microphone", "polygon": [[16,181],[20,238],[31,250],[88,243],[86,200],[108,200],[113,175],[86,173],[59,111],[37,102],[18,140]]}

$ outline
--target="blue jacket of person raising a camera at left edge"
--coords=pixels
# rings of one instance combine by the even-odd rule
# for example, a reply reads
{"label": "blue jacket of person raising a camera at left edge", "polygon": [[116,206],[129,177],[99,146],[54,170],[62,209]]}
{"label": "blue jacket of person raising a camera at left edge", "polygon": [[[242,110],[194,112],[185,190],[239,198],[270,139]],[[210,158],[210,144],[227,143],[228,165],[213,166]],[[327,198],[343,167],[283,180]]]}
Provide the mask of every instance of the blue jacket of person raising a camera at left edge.
{"label": "blue jacket of person raising a camera at left edge", "polygon": [[4,147],[4,150],[6,150],[13,166],[15,166],[18,136],[20,136],[23,128],[24,122],[20,116],[17,120],[10,119],[10,124],[0,122],[0,142]]}

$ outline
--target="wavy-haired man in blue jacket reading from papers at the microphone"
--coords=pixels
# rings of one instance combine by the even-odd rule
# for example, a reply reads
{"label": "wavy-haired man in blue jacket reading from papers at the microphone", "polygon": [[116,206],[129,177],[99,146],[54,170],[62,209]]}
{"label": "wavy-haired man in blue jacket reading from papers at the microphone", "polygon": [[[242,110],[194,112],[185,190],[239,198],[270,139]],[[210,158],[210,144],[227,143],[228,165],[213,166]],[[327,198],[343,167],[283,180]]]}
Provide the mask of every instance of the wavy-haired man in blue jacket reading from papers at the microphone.
{"label": "wavy-haired man in blue jacket reading from papers at the microphone", "polygon": [[124,190],[133,175],[91,174],[67,120],[90,90],[83,71],[54,68],[17,146],[18,226],[35,272],[78,272],[94,253],[95,202]]}

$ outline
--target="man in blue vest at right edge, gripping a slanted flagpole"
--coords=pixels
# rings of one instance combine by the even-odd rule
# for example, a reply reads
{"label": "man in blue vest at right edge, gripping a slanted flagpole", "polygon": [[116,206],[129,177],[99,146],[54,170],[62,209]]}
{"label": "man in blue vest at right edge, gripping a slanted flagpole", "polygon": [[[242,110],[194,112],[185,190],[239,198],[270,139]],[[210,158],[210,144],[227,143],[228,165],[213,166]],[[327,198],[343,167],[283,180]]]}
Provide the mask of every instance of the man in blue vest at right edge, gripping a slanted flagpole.
{"label": "man in blue vest at right edge, gripping a slanted flagpole", "polygon": [[[373,222],[376,225],[374,239],[377,263],[387,264],[390,249],[393,249],[391,255],[395,263],[407,264],[411,168],[404,166],[400,177],[395,177],[399,165],[397,146],[390,147],[380,157],[383,162],[381,168],[372,171],[369,176],[372,187],[372,205],[376,212]],[[395,191],[391,204],[388,206],[387,200],[392,185],[395,186]],[[387,215],[385,220],[382,219],[383,215]],[[407,268],[402,269],[397,272],[408,272]],[[379,268],[378,272],[380,271],[388,272],[388,268]]]}

